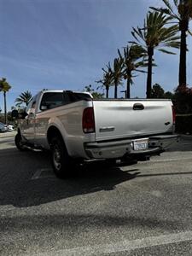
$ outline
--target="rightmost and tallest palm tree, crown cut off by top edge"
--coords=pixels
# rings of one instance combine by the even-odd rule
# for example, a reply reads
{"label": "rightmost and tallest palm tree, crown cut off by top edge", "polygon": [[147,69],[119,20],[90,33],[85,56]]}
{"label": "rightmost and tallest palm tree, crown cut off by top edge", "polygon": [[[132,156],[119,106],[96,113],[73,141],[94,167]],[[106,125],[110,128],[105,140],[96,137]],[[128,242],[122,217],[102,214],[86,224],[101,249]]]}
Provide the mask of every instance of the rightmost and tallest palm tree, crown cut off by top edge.
{"label": "rightmost and tallest palm tree, crown cut off by top edge", "polygon": [[175,19],[178,22],[179,30],[181,32],[178,84],[179,86],[186,87],[186,38],[187,32],[189,31],[189,20],[192,18],[192,0],[173,0],[173,3],[177,8],[177,13],[175,13],[171,3],[169,3],[168,0],[162,1],[166,4],[166,9],[154,7],[151,7],[151,9],[169,15],[172,19]]}

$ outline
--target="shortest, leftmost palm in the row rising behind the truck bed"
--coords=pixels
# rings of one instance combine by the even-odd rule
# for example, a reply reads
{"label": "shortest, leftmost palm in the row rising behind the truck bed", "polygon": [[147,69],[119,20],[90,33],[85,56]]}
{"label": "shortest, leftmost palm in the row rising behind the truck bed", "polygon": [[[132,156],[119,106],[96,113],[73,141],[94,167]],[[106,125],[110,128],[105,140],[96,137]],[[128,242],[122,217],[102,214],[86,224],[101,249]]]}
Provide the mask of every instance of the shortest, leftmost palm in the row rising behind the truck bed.
{"label": "shortest, leftmost palm in the row rising behind the truck bed", "polygon": [[103,77],[101,80],[96,81],[96,83],[102,84],[99,87],[104,87],[106,90],[106,98],[108,99],[108,91],[110,86],[114,84],[113,82],[113,73],[112,69],[110,67],[110,63],[108,63],[108,69],[106,70],[105,68],[102,68],[103,71]]}

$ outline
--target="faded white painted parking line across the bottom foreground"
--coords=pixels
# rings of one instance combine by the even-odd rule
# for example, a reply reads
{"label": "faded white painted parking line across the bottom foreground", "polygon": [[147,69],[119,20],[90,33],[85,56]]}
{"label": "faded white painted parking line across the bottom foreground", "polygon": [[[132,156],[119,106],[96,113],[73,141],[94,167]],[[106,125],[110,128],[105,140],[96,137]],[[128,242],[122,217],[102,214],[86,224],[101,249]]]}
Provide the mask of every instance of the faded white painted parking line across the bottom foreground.
{"label": "faded white painted parking line across the bottom foreground", "polygon": [[176,234],[162,235],[162,236],[149,236],[136,240],[124,240],[116,243],[99,244],[93,247],[74,247],[70,249],[64,249],[53,252],[38,253],[38,255],[49,256],[78,256],[78,255],[99,255],[102,253],[119,253],[119,252],[131,252],[132,250],[162,246],[182,241],[192,241],[192,231],[186,231]]}

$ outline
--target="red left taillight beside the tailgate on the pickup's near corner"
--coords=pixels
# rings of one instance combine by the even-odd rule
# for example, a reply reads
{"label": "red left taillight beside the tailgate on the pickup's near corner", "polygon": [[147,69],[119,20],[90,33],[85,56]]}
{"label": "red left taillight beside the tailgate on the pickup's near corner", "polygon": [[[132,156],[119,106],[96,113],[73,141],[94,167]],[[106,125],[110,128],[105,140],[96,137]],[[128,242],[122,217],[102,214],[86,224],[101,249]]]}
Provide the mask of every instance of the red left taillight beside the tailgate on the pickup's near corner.
{"label": "red left taillight beside the tailgate on the pickup's near corner", "polygon": [[84,133],[96,131],[93,108],[84,108],[82,125]]}

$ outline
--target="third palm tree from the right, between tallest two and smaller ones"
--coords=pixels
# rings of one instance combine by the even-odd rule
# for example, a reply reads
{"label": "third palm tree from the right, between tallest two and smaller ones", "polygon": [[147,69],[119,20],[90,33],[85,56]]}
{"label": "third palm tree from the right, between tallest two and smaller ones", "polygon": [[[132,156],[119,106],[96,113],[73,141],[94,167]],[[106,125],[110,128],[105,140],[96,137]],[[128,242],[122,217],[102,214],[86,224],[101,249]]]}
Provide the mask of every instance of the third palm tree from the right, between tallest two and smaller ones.
{"label": "third palm tree from the right, between tallest two and smaller ones", "polygon": [[[123,60],[123,74],[124,79],[126,79],[125,97],[130,98],[130,86],[133,84],[132,78],[136,77],[134,72],[146,73],[138,68],[145,66],[144,57],[147,55],[147,52],[142,46],[132,44],[130,47],[127,45],[124,48],[123,55],[118,49],[118,54],[119,58]],[[141,58],[143,58],[143,61],[141,61]]]}

